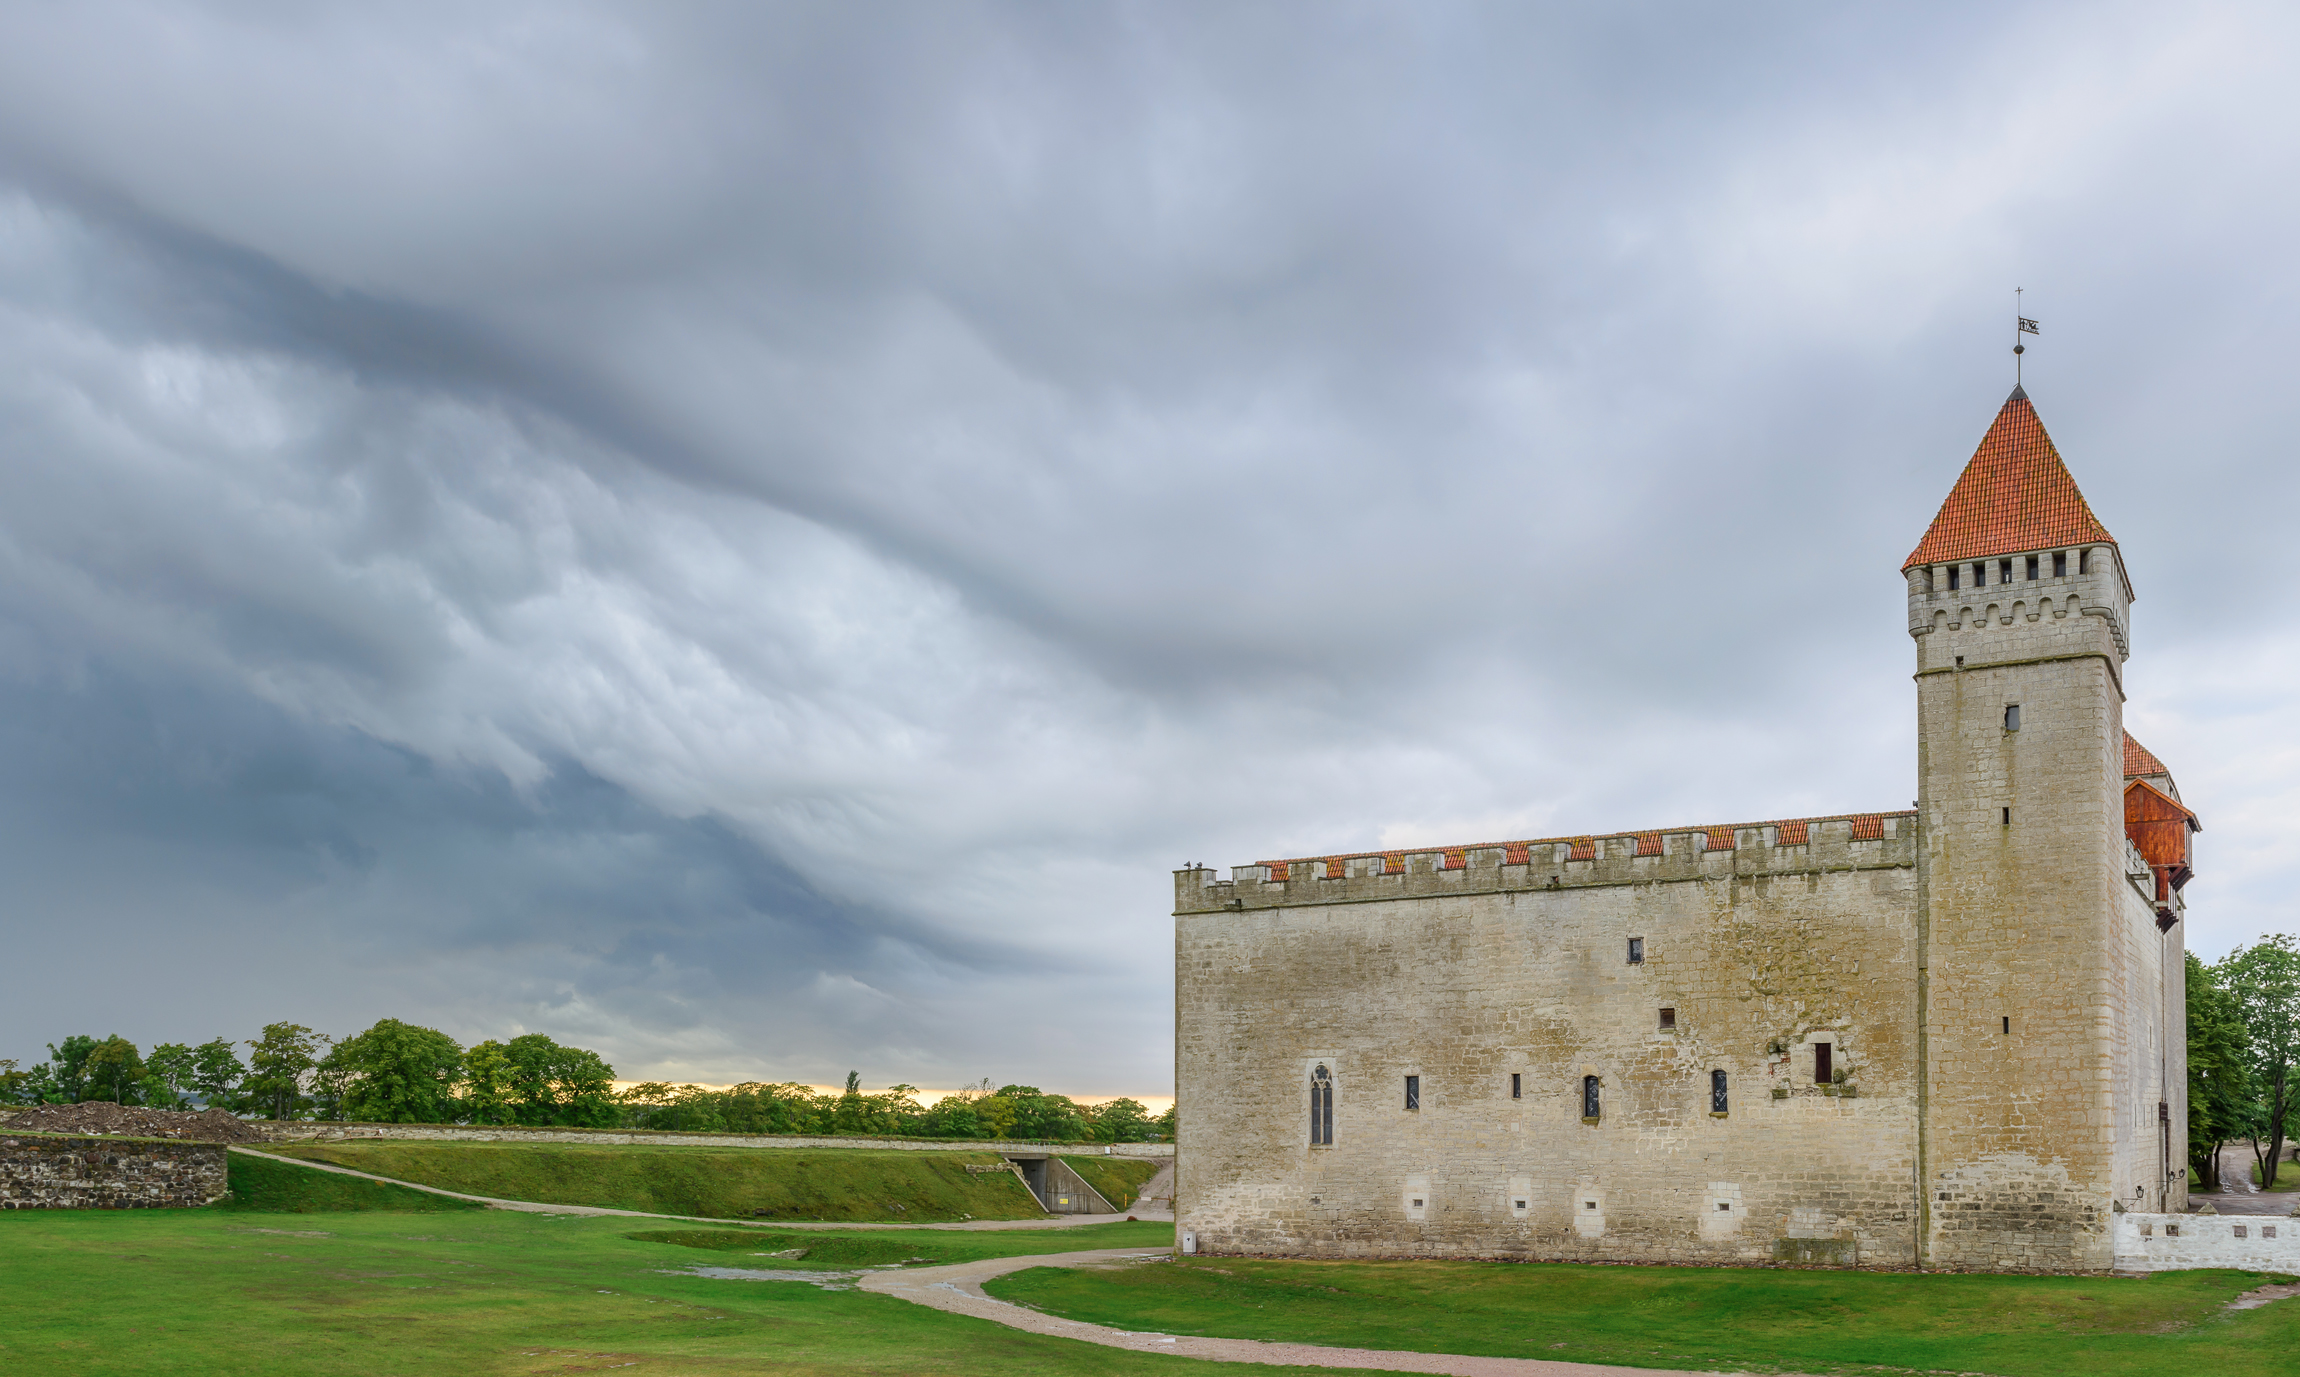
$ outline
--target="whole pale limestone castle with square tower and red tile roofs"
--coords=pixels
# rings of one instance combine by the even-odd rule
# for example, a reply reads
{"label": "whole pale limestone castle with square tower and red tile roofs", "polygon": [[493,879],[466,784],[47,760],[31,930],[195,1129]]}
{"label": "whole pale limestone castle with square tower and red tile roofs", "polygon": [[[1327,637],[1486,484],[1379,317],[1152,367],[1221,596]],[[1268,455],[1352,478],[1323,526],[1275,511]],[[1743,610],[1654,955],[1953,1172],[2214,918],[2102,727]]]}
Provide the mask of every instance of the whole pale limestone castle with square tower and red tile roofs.
{"label": "whole pale limestone castle with square tower and red tile roofs", "polygon": [[2024,391],[1902,575],[1916,811],[1175,871],[1184,1251],[2104,1271],[2187,1209],[2201,825]]}

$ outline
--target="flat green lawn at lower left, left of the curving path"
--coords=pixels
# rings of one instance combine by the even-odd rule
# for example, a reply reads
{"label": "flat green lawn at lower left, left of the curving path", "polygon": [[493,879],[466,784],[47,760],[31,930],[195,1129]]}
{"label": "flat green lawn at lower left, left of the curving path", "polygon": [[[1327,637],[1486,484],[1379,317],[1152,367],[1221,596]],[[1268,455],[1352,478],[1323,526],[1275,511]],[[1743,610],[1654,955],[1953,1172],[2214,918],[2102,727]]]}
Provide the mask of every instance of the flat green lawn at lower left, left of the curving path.
{"label": "flat green lawn at lower left, left of the curving path", "polygon": [[[621,1366],[727,1377],[1173,1377],[1175,1370],[1173,1359],[1019,1333],[892,1297],[690,1276],[697,1264],[784,1269],[789,1262],[628,1239],[632,1223],[504,1209],[0,1211],[0,1370],[12,1377],[518,1377]],[[805,1246],[837,1248],[849,1239],[810,1230]],[[874,1230],[858,1241],[908,1248],[904,1255],[941,1248],[943,1257],[961,1260],[1162,1248],[1171,1239],[1171,1225],[1116,1223]]]}

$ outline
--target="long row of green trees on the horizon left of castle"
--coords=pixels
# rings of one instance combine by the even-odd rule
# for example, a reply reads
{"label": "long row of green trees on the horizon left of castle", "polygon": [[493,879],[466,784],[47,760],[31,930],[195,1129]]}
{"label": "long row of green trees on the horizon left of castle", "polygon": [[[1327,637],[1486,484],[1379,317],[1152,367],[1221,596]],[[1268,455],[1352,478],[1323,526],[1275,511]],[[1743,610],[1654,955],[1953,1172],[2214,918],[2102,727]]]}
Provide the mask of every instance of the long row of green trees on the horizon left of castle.
{"label": "long row of green trees on the horizon left of castle", "polygon": [[[246,1048],[246,1060],[239,1048]],[[614,1067],[593,1051],[540,1032],[469,1048],[437,1028],[384,1018],[334,1039],[301,1023],[269,1023],[244,1041],[163,1041],[150,1053],[124,1037],[67,1037],[48,1060],[0,1060],[0,1103],[113,1101],[152,1108],[223,1108],[260,1120],[361,1124],[527,1124],[669,1129],[688,1133],[810,1133],[902,1138],[1021,1138],[1053,1143],[1157,1143],[1173,1138],[1173,1110],[1150,1117],[1141,1101],[1081,1106],[1035,1085],[989,1080],[920,1103],[915,1085],[865,1092],[856,1071],[844,1092],[800,1083],[727,1090],[646,1080],[614,1087]]]}

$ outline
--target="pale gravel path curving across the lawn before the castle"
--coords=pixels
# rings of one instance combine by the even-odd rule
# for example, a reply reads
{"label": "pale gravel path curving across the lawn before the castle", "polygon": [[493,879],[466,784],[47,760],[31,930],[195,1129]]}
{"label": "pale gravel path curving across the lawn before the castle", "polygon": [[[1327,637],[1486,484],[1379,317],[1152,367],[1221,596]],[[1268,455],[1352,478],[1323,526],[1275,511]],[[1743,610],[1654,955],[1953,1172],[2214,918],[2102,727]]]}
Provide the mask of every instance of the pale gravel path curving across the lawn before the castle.
{"label": "pale gravel path curving across the lawn before the castle", "polygon": [[1263,1343],[1256,1338],[1189,1338],[1175,1333],[1134,1333],[1102,1324],[1063,1320],[1026,1306],[1012,1306],[982,1294],[982,1283],[1023,1267],[1109,1267],[1141,1257],[1166,1257],[1143,1248],[1095,1248],[1090,1253],[1040,1253],[1035,1257],[989,1257],[952,1267],[915,1267],[908,1271],[865,1274],[860,1287],[899,1297],[952,1315],[991,1320],[1007,1329],[1099,1343],[1138,1354],[1175,1354],[1214,1363],[1265,1363],[1300,1368],[1357,1368],[1375,1372],[1449,1372],[1454,1377],[1695,1377],[1661,1368],[1612,1368],[1601,1363],[1557,1363],[1550,1359],[1474,1359],[1465,1354],[1417,1354],[1403,1349],[1343,1349],[1313,1343]]}

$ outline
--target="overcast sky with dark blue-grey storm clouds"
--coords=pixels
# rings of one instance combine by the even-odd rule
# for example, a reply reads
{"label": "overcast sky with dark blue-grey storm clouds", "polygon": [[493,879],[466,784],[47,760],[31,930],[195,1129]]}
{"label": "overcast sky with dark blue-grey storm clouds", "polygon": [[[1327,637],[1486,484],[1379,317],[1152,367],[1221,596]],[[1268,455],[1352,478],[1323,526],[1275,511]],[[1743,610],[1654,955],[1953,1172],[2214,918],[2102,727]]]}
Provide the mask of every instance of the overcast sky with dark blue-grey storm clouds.
{"label": "overcast sky with dark blue-grey storm clouds", "polygon": [[0,7],[0,1055],[1171,1085],[1171,871],[1904,807],[2026,384],[2300,860],[2275,5]]}

